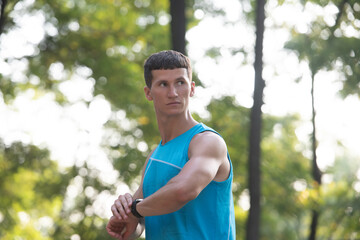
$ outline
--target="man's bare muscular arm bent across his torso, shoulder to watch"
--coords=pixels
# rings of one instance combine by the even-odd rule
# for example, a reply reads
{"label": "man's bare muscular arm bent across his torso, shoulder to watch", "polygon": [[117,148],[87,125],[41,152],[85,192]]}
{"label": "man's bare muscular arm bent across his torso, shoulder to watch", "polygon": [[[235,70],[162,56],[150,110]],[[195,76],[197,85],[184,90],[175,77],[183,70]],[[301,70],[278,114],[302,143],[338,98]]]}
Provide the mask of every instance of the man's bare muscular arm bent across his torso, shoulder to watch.
{"label": "man's bare muscular arm bent across his torso, shoulder to watch", "polygon": [[189,146],[189,161],[165,186],[137,204],[142,216],[175,212],[195,199],[213,180],[225,180],[230,172],[224,140],[212,132],[197,134]]}

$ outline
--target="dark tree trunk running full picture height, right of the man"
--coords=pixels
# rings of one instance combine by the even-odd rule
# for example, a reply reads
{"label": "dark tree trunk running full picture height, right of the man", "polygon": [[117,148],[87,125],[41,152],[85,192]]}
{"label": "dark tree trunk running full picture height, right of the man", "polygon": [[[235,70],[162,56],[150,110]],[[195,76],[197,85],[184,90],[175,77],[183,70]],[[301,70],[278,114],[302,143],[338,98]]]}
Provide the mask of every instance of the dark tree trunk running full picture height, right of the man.
{"label": "dark tree trunk running full picture height, right of the man", "polygon": [[250,211],[247,219],[246,239],[258,240],[260,236],[260,143],[263,92],[265,82],[262,78],[263,69],[263,39],[265,21],[265,0],[257,0],[256,8],[256,43],[255,43],[255,85],[254,85],[254,105],[251,109],[250,120],[250,151],[249,151],[249,191],[250,191]]}

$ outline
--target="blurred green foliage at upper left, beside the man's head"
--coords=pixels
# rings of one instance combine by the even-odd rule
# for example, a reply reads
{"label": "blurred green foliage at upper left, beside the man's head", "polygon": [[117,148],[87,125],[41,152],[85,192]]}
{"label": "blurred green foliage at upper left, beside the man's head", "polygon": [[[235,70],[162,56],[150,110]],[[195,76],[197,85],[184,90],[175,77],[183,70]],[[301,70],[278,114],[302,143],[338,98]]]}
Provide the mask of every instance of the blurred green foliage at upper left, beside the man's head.
{"label": "blurred green foliage at upper left, beside the man's head", "polygon": [[[168,7],[168,0],[36,1],[26,11],[44,14],[46,35],[35,46],[38,50],[35,55],[25,56],[29,63],[26,82],[15,84],[5,77],[0,81],[5,100],[9,102],[19,91],[33,88],[38,93],[51,91],[60,103],[66,104],[68,100],[59,86],[79,69],[87,69],[90,74],[85,78],[94,82],[93,94],[104,95],[114,112],[125,111],[126,119],[132,122],[132,127],[125,130],[119,119],[109,121],[104,144],[105,148],[110,146],[109,153],[116,152],[110,155],[114,166],[121,179],[130,183],[144,161],[144,152],[136,148],[137,144],[146,142],[151,148],[159,141],[152,105],[139,96],[143,96],[145,85],[142,70],[145,58],[170,46]],[[189,17],[198,8],[189,6]],[[192,26],[195,21],[189,18]],[[60,66],[64,76],[54,77],[51,73],[54,66]],[[36,84],[30,81],[34,76],[40,80]],[[119,134],[127,139],[124,144],[106,144]],[[136,167],[129,168],[130,164]]]}

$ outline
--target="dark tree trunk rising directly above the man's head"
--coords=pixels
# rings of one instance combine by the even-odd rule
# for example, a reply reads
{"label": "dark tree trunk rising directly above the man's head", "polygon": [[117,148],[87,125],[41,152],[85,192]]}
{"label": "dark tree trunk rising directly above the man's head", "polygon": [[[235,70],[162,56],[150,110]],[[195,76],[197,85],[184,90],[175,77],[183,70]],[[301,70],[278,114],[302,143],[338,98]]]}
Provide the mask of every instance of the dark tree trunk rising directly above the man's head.
{"label": "dark tree trunk rising directly above the man's head", "polygon": [[183,54],[185,50],[185,32],[186,32],[186,17],[185,17],[185,0],[170,0],[170,15],[171,15],[171,46],[172,49]]}

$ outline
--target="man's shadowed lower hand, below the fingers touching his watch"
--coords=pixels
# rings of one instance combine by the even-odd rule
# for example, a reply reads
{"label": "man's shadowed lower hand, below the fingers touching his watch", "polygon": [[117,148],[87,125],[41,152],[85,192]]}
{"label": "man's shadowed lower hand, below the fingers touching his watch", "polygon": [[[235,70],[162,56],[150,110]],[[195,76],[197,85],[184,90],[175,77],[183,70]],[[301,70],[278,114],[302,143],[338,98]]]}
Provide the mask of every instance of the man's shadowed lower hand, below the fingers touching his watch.
{"label": "man's shadowed lower hand, below the fingers touching his watch", "polygon": [[138,219],[129,218],[128,220],[120,220],[112,216],[106,225],[106,230],[110,236],[119,240],[135,239],[134,235]]}

